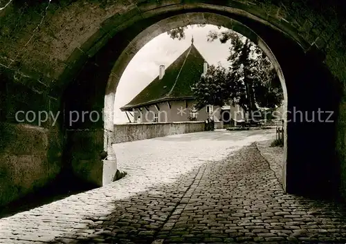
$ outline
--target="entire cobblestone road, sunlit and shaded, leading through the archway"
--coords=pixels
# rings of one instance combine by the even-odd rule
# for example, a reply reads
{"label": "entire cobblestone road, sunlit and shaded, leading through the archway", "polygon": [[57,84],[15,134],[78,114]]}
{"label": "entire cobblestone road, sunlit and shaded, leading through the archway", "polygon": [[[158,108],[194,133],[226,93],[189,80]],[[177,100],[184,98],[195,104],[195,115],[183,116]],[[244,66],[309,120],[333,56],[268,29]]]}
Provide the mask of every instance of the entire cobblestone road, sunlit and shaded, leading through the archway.
{"label": "entire cobblestone road, sunlit and shaded, leading through the archway", "polygon": [[[166,161],[146,168],[154,162],[147,160],[148,156],[156,155],[156,151],[140,153],[138,149],[131,154],[131,160],[141,165],[143,171],[127,169],[128,177],[107,187],[3,218],[0,220],[0,242],[346,242],[342,205],[284,194],[271,164],[263,158],[255,143],[248,145],[273,134],[269,131],[226,133],[195,133],[136,142],[137,146],[143,143],[141,149],[145,149],[145,143],[160,145],[157,153],[164,154]],[[235,147],[235,138],[246,147]],[[195,148],[199,152],[196,158],[186,160],[185,154],[169,157],[170,149],[179,149],[177,144],[190,147],[190,150],[183,150],[192,155],[192,145],[188,146],[192,140],[194,145],[200,144]],[[217,146],[213,146],[214,142]],[[117,145],[116,150],[125,150],[130,144],[135,147],[136,143]],[[167,148],[163,146],[166,143]],[[218,147],[228,148],[230,155],[225,156],[223,152],[216,158],[210,151],[210,154],[201,153],[215,149],[216,155]],[[124,156],[119,156],[122,166],[134,165],[121,162]],[[198,163],[206,156],[210,156],[208,161]],[[174,162],[177,159],[180,161]],[[177,170],[190,161],[192,165]],[[165,167],[165,171],[156,169],[160,166]],[[156,182],[147,180],[144,171],[149,178],[156,178]],[[137,172],[142,173],[136,175]],[[165,180],[165,175],[170,178]],[[127,193],[120,188],[126,188]]]}

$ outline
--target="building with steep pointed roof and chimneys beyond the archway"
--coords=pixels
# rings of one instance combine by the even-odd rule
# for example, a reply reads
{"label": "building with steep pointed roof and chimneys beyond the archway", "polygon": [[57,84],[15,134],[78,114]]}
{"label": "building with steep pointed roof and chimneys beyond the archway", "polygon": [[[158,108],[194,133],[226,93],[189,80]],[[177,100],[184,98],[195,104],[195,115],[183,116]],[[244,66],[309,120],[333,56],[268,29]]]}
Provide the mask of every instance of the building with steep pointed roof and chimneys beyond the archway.
{"label": "building with steep pointed roof and chimneys beyond the archway", "polygon": [[204,121],[211,116],[216,121],[221,120],[220,106],[210,104],[199,111],[194,109],[195,99],[190,87],[207,70],[208,63],[194,46],[192,38],[190,47],[183,54],[167,69],[161,65],[158,77],[120,109],[131,112],[134,122]]}

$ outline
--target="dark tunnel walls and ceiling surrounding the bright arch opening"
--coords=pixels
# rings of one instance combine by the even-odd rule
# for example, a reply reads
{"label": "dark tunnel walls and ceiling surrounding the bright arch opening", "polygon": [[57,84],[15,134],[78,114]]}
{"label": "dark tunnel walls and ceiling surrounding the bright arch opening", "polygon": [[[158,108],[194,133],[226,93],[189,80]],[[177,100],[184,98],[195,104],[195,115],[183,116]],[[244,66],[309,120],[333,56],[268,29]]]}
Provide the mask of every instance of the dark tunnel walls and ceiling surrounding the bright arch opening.
{"label": "dark tunnel walls and ceiling surrounding the bright arch opening", "polygon": [[[135,2],[14,1],[0,12],[0,44],[6,45],[0,52],[0,160],[6,162],[0,165],[5,172],[0,205],[59,177],[56,184],[64,187],[77,178],[104,185],[104,151],[112,156],[116,136],[109,111],[122,72],[147,41],[188,24],[231,26],[264,41],[280,65],[288,98],[284,189],[304,196],[344,196],[343,3]],[[335,17],[327,21],[326,15]],[[295,23],[301,19],[304,24]],[[103,109],[104,121],[70,117],[72,111],[101,115]],[[51,120],[19,123],[17,111],[60,116],[55,126]],[[315,122],[309,122],[313,115]]]}

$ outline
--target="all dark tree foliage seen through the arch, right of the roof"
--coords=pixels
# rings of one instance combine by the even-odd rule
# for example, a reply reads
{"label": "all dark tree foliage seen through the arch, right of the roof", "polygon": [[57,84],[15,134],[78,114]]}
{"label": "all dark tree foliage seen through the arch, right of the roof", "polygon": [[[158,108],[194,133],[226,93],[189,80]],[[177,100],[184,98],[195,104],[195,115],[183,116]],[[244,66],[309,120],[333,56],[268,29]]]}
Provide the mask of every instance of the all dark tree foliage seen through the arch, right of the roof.
{"label": "all dark tree foliage seen through the arch, right of the roof", "polygon": [[[172,39],[185,38],[187,27],[168,32]],[[221,26],[219,26],[219,30]],[[210,31],[207,40],[229,41],[229,68],[210,66],[192,86],[197,109],[207,104],[239,104],[245,111],[275,109],[283,100],[282,86],[270,60],[252,41],[233,30]]]}

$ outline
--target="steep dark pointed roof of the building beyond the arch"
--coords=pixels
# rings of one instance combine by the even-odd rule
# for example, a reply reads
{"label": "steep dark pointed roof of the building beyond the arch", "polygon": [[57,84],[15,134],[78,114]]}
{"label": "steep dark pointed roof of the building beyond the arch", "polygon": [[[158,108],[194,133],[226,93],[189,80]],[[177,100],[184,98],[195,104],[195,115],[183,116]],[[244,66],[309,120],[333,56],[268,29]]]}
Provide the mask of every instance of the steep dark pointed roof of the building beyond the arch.
{"label": "steep dark pointed roof of the building beyond the arch", "polygon": [[205,59],[192,43],[168,68],[160,80],[156,77],[131,102],[122,106],[122,111],[157,102],[193,99],[190,86],[197,82],[203,73]]}

